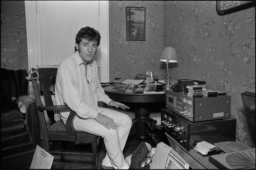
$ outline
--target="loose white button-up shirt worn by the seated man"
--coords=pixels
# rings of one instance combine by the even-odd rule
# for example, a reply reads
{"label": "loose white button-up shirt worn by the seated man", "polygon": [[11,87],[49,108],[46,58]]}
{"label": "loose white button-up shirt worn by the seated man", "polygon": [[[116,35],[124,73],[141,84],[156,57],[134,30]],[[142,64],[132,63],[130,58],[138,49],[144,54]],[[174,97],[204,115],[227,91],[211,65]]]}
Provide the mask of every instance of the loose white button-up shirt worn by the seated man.
{"label": "loose white button-up shirt worn by the seated man", "polygon": [[[56,76],[55,96],[57,105],[67,104],[78,116],[94,119],[101,112],[98,101],[109,105],[111,99],[100,85],[96,61],[87,65],[86,71],[77,51],[62,60]],[[65,123],[69,113],[60,112]]]}

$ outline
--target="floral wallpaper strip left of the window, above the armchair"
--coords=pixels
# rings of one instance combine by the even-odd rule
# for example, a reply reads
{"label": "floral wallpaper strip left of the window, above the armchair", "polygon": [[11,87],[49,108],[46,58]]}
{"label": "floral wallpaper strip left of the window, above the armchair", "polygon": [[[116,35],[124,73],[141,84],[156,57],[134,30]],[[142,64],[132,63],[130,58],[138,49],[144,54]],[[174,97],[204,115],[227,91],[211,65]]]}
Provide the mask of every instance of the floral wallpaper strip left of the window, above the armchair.
{"label": "floral wallpaper strip left of the window, above the armchair", "polygon": [[24,1],[1,1],[1,68],[28,68]]}

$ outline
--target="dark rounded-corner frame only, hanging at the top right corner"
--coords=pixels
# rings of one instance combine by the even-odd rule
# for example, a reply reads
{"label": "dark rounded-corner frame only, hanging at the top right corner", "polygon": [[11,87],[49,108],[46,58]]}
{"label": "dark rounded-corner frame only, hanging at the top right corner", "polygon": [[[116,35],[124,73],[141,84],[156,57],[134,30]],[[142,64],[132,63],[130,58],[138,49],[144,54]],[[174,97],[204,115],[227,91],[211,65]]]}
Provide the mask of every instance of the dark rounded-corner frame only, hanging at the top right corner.
{"label": "dark rounded-corner frame only, hanging at the top right corner", "polygon": [[251,7],[255,6],[255,1],[246,2],[244,4],[234,6],[231,8],[227,8],[225,10],[220,10],[219,5],[220,5],[220,1],[216,1],[216,12],[218,15],[223,16],[223,15],[231,14],[234,12],[242,11],[247,8],[251,8]]}

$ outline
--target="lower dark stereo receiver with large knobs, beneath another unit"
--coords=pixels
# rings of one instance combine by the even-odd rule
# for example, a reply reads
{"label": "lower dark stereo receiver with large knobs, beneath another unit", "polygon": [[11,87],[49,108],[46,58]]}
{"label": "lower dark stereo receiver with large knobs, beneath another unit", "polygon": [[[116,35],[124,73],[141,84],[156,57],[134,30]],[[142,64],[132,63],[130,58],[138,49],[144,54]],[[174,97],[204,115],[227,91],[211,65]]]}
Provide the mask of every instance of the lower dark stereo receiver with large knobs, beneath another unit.
{"label": "lower dark stereo receiver with large knobs, beneath another unit", "polygon": [[210,143],[236,140],[234,118],[190,122],[169,109],[161,109],[161,129],[168,140],[177,141],[187,151],[202,140]]}

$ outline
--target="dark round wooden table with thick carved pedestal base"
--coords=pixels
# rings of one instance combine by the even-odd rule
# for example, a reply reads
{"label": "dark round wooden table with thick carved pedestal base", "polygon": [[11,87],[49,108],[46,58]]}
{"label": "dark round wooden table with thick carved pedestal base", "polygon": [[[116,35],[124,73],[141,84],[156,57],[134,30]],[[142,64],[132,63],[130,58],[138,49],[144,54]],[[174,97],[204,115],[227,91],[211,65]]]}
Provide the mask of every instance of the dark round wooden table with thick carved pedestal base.
{"label": "dark round wooden table with thick carved pedestal base", "polygon": [[[157,143],[165,141],[165,139],[161,138],[166,138],[167,140],[166,135],[156,128],[156,121],[150,119],[148,110],[148,108],[152,108],[152,106],[157,106],[158,108],[165,107],[165,91],[163,93],[154,94],[136,94],[136,88],[132,89],[132,94],[125,94],[125,91],[112,91],[110,86],[104,87],[105,94],[108,95],[110,99],[121,103],[135,104],[135,118],[132,120],[132,127],[127,141],[134,137],[140,140],[148,139],[152,145],[156,146]],[[168,145],[168,142],[165,143]]]}

